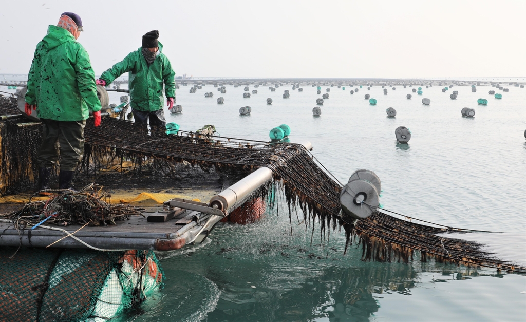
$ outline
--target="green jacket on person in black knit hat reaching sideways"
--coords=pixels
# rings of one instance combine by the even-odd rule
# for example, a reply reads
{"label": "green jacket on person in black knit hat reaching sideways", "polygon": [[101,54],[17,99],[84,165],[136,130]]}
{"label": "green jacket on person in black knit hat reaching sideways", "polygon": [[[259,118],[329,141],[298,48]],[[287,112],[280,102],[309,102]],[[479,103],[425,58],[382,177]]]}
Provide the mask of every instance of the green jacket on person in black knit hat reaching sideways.
{"label": "green jacket on person in black knit hat reaching sideways", "polygon": [[175,72],[171,69],[170,61],[163,51],[163,44],[159,43],[159,56],[148,66],[140,47],[131,52],[119,62],[100,75],[106,84],[115,78],[129,72],[129,90],[131,108],[144,112],[154,112],[166,104],[163,97],[163,83],[166,97],[175,97]]}

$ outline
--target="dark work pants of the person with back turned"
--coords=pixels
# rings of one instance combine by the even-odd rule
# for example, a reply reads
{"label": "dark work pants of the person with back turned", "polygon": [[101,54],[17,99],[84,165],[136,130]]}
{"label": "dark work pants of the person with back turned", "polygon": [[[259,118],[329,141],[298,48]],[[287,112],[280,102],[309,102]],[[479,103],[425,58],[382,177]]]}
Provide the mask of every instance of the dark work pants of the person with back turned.
{"label": "dark work pants of the person with back turned", "polygon": [[60,170],[75,171],[84,154],[84,127],[86,120],[57,121],[41,118],[43,126],[42,145],[37,162],[41,168],[57,164],[56,143],[60,144]]}

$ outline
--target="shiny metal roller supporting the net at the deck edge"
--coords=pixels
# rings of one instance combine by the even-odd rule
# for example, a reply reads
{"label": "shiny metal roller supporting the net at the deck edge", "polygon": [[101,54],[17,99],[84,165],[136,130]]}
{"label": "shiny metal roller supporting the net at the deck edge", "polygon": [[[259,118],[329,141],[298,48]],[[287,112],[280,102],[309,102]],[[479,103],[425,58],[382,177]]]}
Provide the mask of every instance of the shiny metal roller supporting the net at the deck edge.
{"label": "shiny metal roller supporting the net at the deck edge", "polygon": [[[312,144],[308,141],[301,143],[306,149],[312,149]],[[245,178],[242,178],[234,185],[223,190],[210,199],[209,205],[217,208],[224,213],[234,209],[244,203],[246,198],[256,189],[272,179],[272,170],[267,167],[261,167],[252,172]]]}

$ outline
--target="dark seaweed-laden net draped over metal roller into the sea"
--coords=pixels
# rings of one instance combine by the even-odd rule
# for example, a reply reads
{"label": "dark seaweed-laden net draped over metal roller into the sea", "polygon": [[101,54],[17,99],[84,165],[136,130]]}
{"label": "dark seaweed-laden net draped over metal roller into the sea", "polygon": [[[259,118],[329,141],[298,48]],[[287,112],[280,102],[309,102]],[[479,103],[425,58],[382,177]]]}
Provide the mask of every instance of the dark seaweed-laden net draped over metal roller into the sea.
{"label": "dark seaweed-laden net draped over metal roller into the sea", "polygon": [[[420,251],[421,260],[430,257],[439,262],[488,266],[510,271],[526,272],[526,267],[514,266],[499,260],[494,254],[482,250],[480,244],[461,239],[439,237],[447,228],[433,228],[407,222],[377,212],[353,224],[352,218],[341,214],[339,195],[341,186],[321,170],[305,148],[291,143],[268,143],[226,137],[210,137],[196,133],[178,132],[166,135],[164,129],[151,129],[150,133],[133,122],[105,118],[103,125],[95,127],[88,122],[85,128],[85,153],[81,164],[84,175],[100,174],[108,164],[131,169],[128,173],[148,170],[159,176],[171,176],[176,164],[199,166],[205,171],[248,174],[266,166],[274,171],[284,192],[289,215],[292,208],[300,208],[305,222],[312,228],[320,220],[322,233],[343,228],[347,243],[357,238],[363,247],[364,260],[408,262],[414,251]],[[38,144],[34,128],[31,132]],[[13,143],[16,145],[16,143]],[[27,161],[26,161],[27,162]],[[25,165],[31,167],[31,165]],[[124,171],[119,174],[125,173]]]}

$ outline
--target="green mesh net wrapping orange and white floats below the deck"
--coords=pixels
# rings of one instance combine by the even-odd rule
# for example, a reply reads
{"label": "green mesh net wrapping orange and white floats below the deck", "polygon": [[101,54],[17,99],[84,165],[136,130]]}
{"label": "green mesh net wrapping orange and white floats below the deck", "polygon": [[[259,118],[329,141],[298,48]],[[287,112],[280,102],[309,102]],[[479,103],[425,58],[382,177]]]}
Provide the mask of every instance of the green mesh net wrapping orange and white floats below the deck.
{"label": "green mesh net wrapping orange and white floats below the deck", "polygon": [[103,321],[163,285],[150,250],[16,250],[0,249],[2,321]]}

